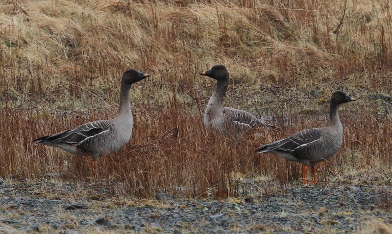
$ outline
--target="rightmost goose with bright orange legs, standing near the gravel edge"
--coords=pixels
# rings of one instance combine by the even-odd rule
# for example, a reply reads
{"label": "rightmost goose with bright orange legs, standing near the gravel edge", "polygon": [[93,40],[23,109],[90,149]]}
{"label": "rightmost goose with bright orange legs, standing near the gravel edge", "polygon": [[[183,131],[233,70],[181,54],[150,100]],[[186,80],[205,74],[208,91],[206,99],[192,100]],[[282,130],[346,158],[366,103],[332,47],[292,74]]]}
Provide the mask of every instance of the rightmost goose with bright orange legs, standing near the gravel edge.
{"label": "rightmost goose with bright orange legs, standing near the gravel edge", "polygon": [[307,183],[306,176],[310,164],[313,174],[313,182],[310,183],[317,183],[316,164],[333,156],[342,146],[343,126],[339,118],[339,104],[352,101],[356,100],[343,91],[334,92],[330,101],[328,127],[299,131],[281,140],[260,146],[256,153],[271,153],[289,161],[301,162],[303,183]]}

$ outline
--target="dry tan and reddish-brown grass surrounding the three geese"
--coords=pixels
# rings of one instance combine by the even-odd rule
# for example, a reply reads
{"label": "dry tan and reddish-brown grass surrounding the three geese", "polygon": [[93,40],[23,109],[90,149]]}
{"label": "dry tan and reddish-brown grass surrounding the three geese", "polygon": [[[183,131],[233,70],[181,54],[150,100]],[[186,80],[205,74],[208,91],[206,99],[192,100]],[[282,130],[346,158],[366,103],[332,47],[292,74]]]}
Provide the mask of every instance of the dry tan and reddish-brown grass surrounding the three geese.
{"label": "dry tan and reddish-brown grass surrounding the three geese", "polygon": [[[327,125],[337,89],[359,101],[343,106],[343,149],[319,164],[320,180],[391,182],[391,102],[368,98],[392,93],[386,1],[348,0],[338,31],[338,0],[17,0],[0,12],[0,177],[89,177],[88,158],[31,141],[115,116],[121,74],[136,68],[153,77],[131,90],[132,139],[98,160],[100,179],[120,184],[116,194],[184,188],[189,197],[226,197],[238,195],[241,178],[296,180],[300,165],[254,149]],[[218,63],[238,75],[226,103],[270,116],[280,132],[259,130],[242,142],[206,136],[213,82],[197,73]]]}

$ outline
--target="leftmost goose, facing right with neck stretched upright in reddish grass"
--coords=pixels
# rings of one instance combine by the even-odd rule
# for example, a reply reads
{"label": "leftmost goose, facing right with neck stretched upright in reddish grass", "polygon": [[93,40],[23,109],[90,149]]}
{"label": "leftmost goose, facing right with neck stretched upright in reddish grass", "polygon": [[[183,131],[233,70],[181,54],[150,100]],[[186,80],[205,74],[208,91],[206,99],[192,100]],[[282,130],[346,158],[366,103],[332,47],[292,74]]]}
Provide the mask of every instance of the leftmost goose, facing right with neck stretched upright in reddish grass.
{"label": "leftmost goose, facing right with neck stretched upright in reddish grass", "polygon": [[97,158],[120,150],[130,139],[133,116],[129,103],[131,84],[150,77],[149,74],[130,69],[121,80],[120,111],[116,118],[99,120],[77,126],[74,129],[44,136],[33,141],[34,145],[49,145],[71,154],[92,156],[92,169],[97,169]]}

